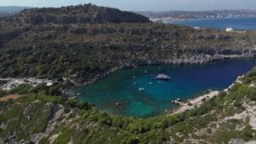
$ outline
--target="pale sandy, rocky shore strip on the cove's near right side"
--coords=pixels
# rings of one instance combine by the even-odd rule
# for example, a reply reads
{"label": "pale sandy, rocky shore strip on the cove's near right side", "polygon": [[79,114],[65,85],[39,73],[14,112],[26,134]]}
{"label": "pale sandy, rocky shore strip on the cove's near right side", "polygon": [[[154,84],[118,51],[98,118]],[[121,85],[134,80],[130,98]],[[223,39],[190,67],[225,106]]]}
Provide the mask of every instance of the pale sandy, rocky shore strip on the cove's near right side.
{"label": "pale sandy, rocky shore strip on the cove's near right side", "polygon": [[175,109],[174,111],[172,111],[168,115],[176,114],[176,113],[179,113],[179,112],[185,112],[185,111],[190,110],[192,108],[199,107],[199,106],[201,106],[201,104],[204,101],[207,101],[207,100],[211,99],[213,96],[218,95],[218,94],[219,94],[219,91],[215,90],[215,91],[209,92],[208,94],[196,97],[195,99],[190,99],[186,102],[179,102],[179,107],[177,109]]}

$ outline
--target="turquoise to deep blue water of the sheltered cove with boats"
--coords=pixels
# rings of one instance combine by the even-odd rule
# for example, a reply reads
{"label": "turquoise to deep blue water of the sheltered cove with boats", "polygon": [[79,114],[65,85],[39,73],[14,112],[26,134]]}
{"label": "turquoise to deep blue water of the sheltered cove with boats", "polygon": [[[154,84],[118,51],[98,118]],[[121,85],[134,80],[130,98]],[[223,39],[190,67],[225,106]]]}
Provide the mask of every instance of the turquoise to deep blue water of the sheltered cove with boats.
{"label": "turquoise to deep blue water of the sheltered cove with boats", "polygon": [[[256,59],[218,60],[202,65],[139,66],[113,72],[94,84],[72,90],[80,101],[95,104],[102,112],[122,116],[152,117],[175,107],[171,101],[227,88],[256,66]],[[155,79],[164,73],[170,81]]]}

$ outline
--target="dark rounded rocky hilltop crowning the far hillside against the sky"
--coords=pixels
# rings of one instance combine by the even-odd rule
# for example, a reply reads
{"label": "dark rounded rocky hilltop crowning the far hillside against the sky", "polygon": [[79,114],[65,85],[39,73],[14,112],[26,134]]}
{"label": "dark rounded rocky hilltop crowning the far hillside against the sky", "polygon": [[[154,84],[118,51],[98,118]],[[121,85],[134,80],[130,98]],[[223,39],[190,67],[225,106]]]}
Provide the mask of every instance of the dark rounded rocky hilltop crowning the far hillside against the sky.
{"label": "dark rounded rocky hilltop crowning the far hillside against the sky", "polygon": [[84,24],[84,23],[145,23],[143,15],[106,7],[86,4],[61,8],[26,9],[15,15],[16,23],[38,24]]}

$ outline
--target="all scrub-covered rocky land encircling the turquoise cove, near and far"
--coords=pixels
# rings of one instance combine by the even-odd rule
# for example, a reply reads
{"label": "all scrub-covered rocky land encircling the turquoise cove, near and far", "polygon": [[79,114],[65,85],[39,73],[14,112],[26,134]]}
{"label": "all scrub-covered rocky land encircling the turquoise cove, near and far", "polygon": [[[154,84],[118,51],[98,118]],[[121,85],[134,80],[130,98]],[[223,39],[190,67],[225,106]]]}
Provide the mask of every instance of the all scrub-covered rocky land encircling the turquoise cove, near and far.
{"label": "all scrub-covered rocky land encircling the turquoise cove, near and far", "polygon": [[200,107],[153,118],[108,115],[60,91],[69,82],[90,84],[126,67],[252,57],[255,37],[157,24],[91,4],[28,9],[1,19],[0,78],[56,83],[0,90],[0,143],[255,142],[255,68]]}

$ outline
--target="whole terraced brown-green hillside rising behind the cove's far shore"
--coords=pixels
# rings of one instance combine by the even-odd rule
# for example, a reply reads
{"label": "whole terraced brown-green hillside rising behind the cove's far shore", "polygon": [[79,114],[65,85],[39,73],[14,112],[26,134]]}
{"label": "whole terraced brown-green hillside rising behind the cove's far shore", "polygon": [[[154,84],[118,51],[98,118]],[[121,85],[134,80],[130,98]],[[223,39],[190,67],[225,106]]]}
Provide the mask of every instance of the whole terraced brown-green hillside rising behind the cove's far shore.
{"label": "whole terraced brown-green hillside rising behind the cove's far shore", "polygon": [[92,5],[22,11],[1,21],[0,37],[0,77],[64,78],[76,84],[125,67],[255,55],[255,32],[156,24]]}

